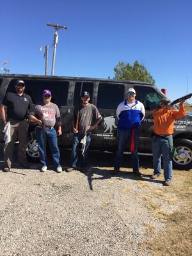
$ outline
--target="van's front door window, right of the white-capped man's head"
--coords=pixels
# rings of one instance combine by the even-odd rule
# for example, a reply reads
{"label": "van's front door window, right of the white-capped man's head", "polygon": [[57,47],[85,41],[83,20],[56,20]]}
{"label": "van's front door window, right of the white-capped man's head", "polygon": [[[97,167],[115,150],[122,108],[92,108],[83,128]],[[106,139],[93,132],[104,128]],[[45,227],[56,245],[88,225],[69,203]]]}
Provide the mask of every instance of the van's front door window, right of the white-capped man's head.
{"label": "van's front door window, right of the white-capped man's head", "polygon": [[143,103],[145,110],[154,110],[159,106],[162,96],[154,88],[146,86],[134,86],[136,99]]}

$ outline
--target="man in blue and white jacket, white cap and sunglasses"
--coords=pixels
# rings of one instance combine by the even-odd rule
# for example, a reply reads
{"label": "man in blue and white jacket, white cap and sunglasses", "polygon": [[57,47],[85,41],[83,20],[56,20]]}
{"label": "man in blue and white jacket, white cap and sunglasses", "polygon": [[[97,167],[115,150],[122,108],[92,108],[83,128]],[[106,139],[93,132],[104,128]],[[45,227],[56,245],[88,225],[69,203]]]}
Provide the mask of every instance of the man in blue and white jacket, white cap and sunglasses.
{"label": "man in blue and white jacket, white cap and sunglasses", "polygon": [[125,146],[129,142],[133,172],[138,177],[142,177],[139,171],[138,143],[140,125],[141,120],[145,116],[145,108],[140,101],[136,100],[136,91],[134,88],[129,88],[127,100],[118,105],[116,116],[118,118],[118,150],[115,157],[115,168],[111,174],[117,174],[119,172]]}

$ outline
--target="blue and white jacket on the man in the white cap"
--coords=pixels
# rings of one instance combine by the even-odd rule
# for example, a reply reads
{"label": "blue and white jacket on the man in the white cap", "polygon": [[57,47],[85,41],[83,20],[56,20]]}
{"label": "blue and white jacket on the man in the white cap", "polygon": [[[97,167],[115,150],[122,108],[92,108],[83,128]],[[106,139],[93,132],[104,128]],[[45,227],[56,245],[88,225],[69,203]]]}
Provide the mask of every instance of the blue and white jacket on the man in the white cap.
{"label": "blue and white jacket on the man in the white cap", "polygon": [[141,125],[141,120],[145,116],[145,108],[143,103],[138,100],[134,104],[125,100],[118,105],[116,116],[118,118],[118,129],[131,130]]}

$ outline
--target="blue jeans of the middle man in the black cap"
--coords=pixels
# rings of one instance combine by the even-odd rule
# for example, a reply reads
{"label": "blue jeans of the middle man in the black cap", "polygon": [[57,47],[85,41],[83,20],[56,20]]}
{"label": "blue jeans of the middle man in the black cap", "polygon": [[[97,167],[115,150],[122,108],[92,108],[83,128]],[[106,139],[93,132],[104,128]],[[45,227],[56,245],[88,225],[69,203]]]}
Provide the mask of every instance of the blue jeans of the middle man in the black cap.
{"label": "blue jeans of the middle man in the black cap", "polygon": [[[84,137],[84,134],[74,133],[74,143],[73,143],[72,152],[71,152],[71,167],[72,168],[76,168],[78,155],[79,155],[80,142],[83,139],[83,137]],[[90,142],[91,142],[91,136],[90,136],[90,134],[87,134],[86,145],[85,145],[84,153],[83,153],[82,159],[81,159],[81,168],[86,168],[86,166],[87,166],[88,149],[90,147]]]}

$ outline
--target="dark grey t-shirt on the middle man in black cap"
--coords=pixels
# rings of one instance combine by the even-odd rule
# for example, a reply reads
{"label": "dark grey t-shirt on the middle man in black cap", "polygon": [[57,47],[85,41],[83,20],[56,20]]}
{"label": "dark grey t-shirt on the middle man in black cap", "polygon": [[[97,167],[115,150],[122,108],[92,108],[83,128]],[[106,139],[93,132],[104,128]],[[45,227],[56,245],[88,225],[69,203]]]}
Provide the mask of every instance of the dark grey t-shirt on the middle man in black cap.
{"label": "dark grey t-shirt on the middle man in black cap", "polygon": [[[77,120],[77,112],[78,109],[74,109],[74,125]],[[78,132],[79,134],[90,134],[91,131],[87,132],[86,129],[89,125],[93,125],[95,121],[100,118],[101,115],[98,109],[93,104],[88,104],[87,106],[83,106],[81,104],[79,108],[79,124],[78,124]],[[76,126],[76,125],[75,125]]]}

